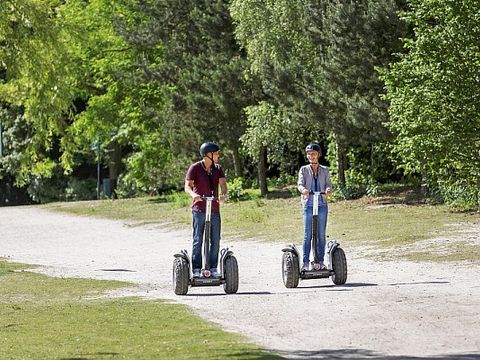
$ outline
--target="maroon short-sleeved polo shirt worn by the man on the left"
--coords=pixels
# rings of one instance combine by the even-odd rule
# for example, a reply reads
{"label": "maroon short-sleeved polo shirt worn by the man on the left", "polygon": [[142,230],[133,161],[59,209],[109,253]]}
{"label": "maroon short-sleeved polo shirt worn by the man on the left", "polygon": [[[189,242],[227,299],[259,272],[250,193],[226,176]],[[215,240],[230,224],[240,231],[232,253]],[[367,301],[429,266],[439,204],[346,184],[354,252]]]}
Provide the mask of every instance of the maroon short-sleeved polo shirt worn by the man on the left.
{"label": "maroon short-sleeved polo shirt worn by the man on the left", "polygon": [[[207,171],[204,169],[202,162],[198,161],[188,168],[187,176],[185,176],[185,180],[192,181],[193,180],[193,191],[195,191],[200,196],[215,196],[218,198],[218,180],[220,178],[224,178],[225,174],[220,167],[220,165],[215,164],[211,169],[211,178],[213,181],[213,194],[210,185],[210,176]],[[206,202],[199,201],[196,204],[192,203],[192,210],[193,211],[201,211],[205,212],[206,210]],[[218,205],[218,201],[212,202],[212,212],[218,213],[220,212],[220,207]]]}

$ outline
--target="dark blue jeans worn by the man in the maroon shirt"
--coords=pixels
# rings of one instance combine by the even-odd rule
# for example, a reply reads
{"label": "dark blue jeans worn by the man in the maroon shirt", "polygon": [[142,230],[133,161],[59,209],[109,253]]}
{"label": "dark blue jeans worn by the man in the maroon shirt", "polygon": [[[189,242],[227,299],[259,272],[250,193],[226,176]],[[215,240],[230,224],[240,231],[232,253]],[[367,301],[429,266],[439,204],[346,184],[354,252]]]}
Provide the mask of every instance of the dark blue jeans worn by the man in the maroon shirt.
{"label": "dark blue jeans worn by the man in the maroon shirt", "polygon": [[[192,211],[193,217],[193,249],[192,249],[192,265],[194,269],[202,268],[202,245],[205,230],[205,213],[200,211]],[[216,268],[218,263],[218,249],[220,246],[220,229],[221,219],[220,213],[212,213],[210,218],[210,269]]]}

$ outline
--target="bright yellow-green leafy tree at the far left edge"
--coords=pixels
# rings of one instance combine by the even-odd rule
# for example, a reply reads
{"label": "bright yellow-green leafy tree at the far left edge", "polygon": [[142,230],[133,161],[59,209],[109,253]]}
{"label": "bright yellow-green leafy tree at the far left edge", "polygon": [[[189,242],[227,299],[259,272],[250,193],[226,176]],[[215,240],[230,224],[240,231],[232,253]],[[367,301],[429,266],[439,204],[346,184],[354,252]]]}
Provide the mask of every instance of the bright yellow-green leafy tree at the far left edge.
{"label": "bright yellow-green leafy tree at the far left edge", "polygon": [[23,111],[31,138],[19,154],[17,183],[51,174],[52,143],[67,127],[75,86],[69,76],[71,36],[57,21],[60,1],[0,2],[0,100]]}

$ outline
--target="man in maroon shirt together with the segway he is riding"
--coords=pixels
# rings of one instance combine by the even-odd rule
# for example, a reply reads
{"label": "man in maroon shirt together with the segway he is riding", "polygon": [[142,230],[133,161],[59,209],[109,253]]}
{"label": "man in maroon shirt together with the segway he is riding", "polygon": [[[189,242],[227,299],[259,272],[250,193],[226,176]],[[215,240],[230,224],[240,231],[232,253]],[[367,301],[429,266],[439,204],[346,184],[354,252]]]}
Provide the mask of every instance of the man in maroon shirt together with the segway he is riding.
{"label": "man in maroon shirt together with the segway he is riding", "polygon": [[193,244],[191,260],[186,250],[175,254],[173,282],[177,295],[185,295],[188,285],[223,284],[227,294],[236,293],[238,289],[237,260],[228,248],[222,249],[220,271],[218,268],[221,233],[219,203],[227,200],[227,180],[218,165],[219,151],[217,144],[203,143],[200,146],[202,160],[192,164],[185,177],[185,192],[193,199]]}

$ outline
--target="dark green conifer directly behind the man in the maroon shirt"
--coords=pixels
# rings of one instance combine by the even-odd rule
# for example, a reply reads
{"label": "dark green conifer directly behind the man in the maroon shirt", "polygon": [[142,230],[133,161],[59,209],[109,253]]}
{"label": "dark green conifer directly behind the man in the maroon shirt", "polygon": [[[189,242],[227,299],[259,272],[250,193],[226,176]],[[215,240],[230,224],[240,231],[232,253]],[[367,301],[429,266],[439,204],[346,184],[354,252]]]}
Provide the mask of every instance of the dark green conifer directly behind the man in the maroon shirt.
{"label": "dark green conifer directly behind the man in the maroon shirt", "polygon": [[181,129],[172,137],[177,154],[191,159],[201,142],[215,140],[231,151],[235,173],[241,175],[242,109],[255,95],[243,77],[246,61],[233,37],[227,3],[162,0],[139,3],[134,10],[143,21],[126,24],[123,35],[146,54],[158,46],[164,51],[160,63],[146,56],[142,70],[153,86],[169,89],[169,108],[162,116]]}

